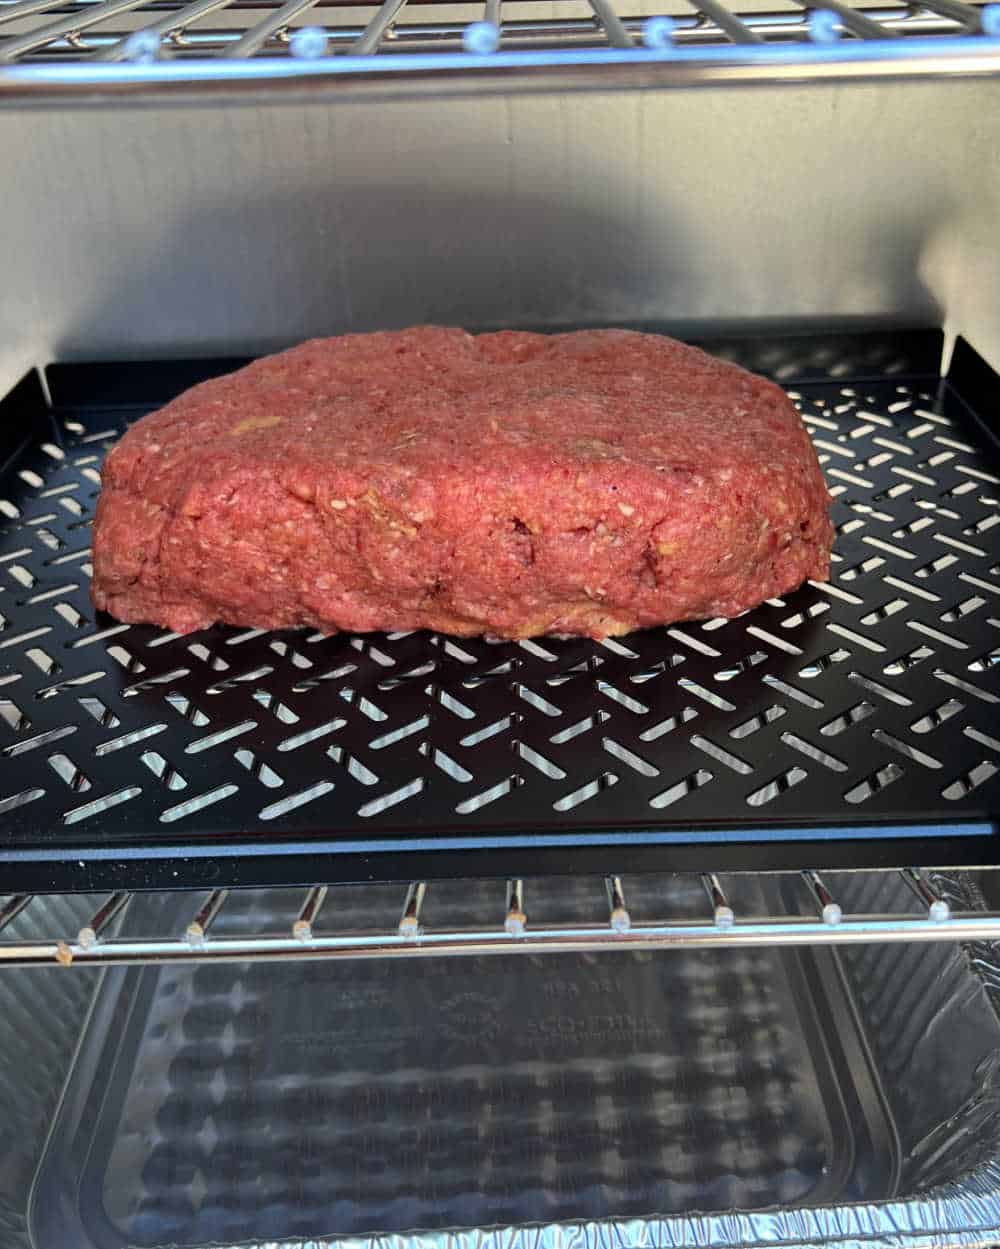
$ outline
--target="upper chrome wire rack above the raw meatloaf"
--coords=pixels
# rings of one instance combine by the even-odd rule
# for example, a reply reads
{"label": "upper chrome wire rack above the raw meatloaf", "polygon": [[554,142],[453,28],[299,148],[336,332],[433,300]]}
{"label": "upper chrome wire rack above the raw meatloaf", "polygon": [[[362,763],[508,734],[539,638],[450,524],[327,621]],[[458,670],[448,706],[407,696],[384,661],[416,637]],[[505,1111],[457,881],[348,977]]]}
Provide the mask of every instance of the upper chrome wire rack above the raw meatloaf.
{"label": "upper chrome wire rack above the raw meatloaf", "polygon": [[0,0],[0,99],[317,77],[386,91],[497,75],[548,89],[998,71],[1000,4],[966,0],[764,12],[690,0],[672,15],[653,0]]}

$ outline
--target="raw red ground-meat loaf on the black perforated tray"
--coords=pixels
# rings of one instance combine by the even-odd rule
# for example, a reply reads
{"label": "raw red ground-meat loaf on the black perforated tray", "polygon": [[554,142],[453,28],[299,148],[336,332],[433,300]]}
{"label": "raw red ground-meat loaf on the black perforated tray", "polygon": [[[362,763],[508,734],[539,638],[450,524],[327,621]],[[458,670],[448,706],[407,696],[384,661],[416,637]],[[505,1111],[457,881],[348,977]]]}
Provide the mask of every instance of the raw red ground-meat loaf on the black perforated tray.
{"label": "raw red ground-meat loaf on the black perforated tray", "polygon": [[94,601],[182,633],[604,637],[824,580],[828,502],[783,391],[670,338],[317,338],[125,435]]}

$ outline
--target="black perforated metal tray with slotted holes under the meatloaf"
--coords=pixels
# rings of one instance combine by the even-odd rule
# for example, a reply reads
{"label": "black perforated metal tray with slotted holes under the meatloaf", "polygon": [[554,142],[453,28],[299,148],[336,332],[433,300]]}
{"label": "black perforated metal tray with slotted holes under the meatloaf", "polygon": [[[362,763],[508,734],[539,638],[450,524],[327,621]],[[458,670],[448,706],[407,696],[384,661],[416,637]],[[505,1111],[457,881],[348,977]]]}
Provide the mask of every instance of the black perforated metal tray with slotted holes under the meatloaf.
{"label": "black perforated metal tray with slotted holes under the meatloaf", "polygon": [[622,639],[95,621],[127,422],[233,361],[61,366],[2,407],[0,864],[11,891],[995,863],[1000,381],[936,332],[715,343],[803,410],[833,581]]}

